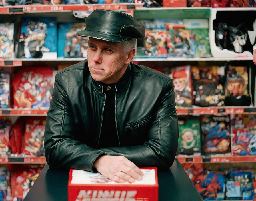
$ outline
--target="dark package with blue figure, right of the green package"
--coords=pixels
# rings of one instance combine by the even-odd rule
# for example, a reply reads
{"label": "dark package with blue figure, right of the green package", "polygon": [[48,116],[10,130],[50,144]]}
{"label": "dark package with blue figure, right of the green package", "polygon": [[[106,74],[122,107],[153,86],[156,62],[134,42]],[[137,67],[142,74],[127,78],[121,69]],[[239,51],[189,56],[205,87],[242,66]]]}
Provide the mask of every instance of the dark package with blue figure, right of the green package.
{"label": "dark package with blue figure, right of the green package", "polygon": [[230,153],[230,117],[200,116],[204,155]]}

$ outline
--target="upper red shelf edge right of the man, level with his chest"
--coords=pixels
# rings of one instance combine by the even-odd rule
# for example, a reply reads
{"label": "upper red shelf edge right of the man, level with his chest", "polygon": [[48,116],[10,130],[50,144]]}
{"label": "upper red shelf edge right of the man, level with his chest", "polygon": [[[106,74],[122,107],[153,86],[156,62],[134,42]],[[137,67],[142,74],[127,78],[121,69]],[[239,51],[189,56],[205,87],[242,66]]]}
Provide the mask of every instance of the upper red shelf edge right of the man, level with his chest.
{"label": "upper red shelf edge right of the man, level with his chest", "polygon": [[177,108],[177,114],[256,114],[256,107],[197,107],[197,108]]}

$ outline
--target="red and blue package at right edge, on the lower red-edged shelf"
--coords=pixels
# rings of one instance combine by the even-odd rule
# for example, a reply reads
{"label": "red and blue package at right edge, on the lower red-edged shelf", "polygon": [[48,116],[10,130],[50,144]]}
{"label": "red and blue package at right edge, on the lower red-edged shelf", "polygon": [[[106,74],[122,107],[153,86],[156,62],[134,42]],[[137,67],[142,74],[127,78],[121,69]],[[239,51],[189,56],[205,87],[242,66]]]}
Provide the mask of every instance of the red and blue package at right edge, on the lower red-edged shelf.
{"label": "red and blue package at right edge, on the lower red-edged shelf", "polygon": [[232,115],[233,155],[256,155],[256,115]]}

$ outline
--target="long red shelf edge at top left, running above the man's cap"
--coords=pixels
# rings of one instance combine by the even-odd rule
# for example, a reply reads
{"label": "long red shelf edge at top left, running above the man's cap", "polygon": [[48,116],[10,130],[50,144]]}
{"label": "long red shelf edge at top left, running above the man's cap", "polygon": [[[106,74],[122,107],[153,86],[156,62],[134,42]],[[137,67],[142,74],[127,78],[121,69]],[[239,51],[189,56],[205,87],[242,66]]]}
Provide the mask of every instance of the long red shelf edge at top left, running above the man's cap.
{"label": "long red shelf edge at top left, running above the man's cap", "polygon": [[142,7],[141,4],[76,4],[76,5],[25,5],[0,7],[0,14],[23,14],[38,12],[93,11],[95,9],[129,10]]}

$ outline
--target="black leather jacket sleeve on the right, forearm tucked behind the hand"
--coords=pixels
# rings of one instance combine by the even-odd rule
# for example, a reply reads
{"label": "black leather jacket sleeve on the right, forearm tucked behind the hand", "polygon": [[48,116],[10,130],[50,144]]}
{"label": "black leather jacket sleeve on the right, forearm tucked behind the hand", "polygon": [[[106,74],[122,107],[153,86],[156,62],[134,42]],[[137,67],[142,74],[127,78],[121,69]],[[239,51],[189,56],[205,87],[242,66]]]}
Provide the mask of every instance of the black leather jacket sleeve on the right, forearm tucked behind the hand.
{"label": "black leather jacket sleeve on the right, forearm tucked behind the hand", "polygon": [[125,156],[139,167],[171,167],[178,146],[178,118],[173,88],[173,81],[169,79],[143,145],[98,150],[111,156]]}

